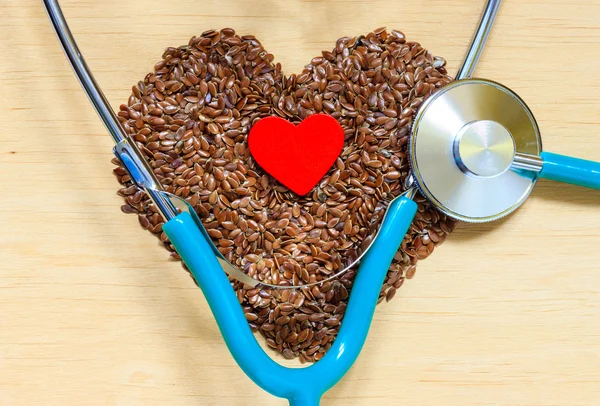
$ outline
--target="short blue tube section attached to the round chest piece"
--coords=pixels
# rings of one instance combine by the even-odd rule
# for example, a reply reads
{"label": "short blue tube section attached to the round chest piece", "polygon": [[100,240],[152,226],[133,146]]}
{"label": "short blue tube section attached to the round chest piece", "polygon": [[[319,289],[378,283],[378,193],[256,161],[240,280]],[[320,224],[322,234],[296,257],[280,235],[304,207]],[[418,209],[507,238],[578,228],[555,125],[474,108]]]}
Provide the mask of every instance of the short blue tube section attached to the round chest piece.
{"label": "short blue tube section attached to the round chest piece", "polygon": [[573,185],[600,189],[600,162],[542,152],[540,177]]}

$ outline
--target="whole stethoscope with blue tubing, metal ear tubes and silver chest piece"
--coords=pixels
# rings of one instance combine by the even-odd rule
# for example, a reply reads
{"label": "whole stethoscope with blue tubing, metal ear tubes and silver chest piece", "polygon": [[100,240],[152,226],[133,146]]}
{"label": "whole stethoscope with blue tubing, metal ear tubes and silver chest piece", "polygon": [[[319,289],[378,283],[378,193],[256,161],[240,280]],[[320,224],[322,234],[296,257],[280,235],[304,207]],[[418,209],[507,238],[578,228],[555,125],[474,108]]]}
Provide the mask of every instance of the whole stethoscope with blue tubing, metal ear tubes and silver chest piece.
{"label": "whole stethoscope with blue tubing, metal ear tubes and silver chest piece", "polygon": [[429,97],[416,114],[405,191],[389,202],[379,232],[360,261],[335,342],[310,367],[283,367],[254,338],[223,270],[249,284],[257,281],[229,269],[215,255],[193,210],[161,188],[95,82],[57,1],[43,2],[69,62],[115,141],[116,156],[163,216],[163,231],[202,289],[229,351],[257,385],[290,404],[318,405],[358,357],[389,265],[416,214],[412,199],[417,190],[450,217],[485,222],[516,210],[538,178],[600,189],[600,163],[543,152],[527,105],[499,83],[470,78],[500,5],[489,0],[457,80]]}

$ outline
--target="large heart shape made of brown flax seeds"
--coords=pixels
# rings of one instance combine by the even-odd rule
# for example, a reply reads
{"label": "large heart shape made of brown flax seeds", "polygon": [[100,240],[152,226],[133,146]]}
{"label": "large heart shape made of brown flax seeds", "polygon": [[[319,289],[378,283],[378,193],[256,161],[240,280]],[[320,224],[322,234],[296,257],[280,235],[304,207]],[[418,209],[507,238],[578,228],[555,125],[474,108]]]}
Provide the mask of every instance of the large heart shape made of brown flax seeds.
{"label": "large heart shape made of brown flax seeds", "polygon": [[[252,35],[206,31],[188,45],[167,48],[118,116],[164,188],[194,207],[230,262],[252,277],[297,285],[327,277],[356,255],[379,201],[402,192],[416,110],[452,79],[442,58],[384,28],[340,38],[299,75],[285,76],[273,60]],[[299,197],[256,165],[247,136],[260,118],[298,124],[316,113],[339,122],[344,147],[319,184]],[[122,210],[137,213],[179,259],[150,200],[122,167],[114,172],[124,186]],[[390,300],[414,275],[417,260],[454,228],[424,198],[416,201],[417,216],[380,301]],[[270,347],[313,362],[335,339],[355,272],[294,290],[232,285],[250,326]]]}

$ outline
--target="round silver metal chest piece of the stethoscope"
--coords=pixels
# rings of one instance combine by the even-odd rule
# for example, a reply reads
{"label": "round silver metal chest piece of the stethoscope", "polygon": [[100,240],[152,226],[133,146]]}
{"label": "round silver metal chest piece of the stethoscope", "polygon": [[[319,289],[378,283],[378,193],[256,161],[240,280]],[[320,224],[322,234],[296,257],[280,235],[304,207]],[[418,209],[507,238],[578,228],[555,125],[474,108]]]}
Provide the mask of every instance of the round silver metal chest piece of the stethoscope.
{"label": "round silver metal chest piece of the stethoscope", "polygon": [[488,80],[452,82],[423,103],[413,125],[410,163],[421,192],[442,212],[486,222],[517,209],[537,180],[523,160],[542,151],[527,105]]}

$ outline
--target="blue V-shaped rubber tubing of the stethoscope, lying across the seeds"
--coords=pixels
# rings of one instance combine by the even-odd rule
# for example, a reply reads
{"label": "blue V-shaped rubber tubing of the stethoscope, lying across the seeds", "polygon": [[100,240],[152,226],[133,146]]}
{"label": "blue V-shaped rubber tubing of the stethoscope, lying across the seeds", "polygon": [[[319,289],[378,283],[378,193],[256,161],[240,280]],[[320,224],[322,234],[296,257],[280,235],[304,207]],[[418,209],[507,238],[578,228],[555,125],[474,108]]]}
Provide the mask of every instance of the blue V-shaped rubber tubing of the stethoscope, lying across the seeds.
{"label": "blue V-shaped rubber tubing of the stethoscope, lying across the seeds", "polygon": [[163,231],[194,275],[229,351],[246,375],[267,392],[288,399],[290,405],[316,406],[358,357],[388,268],[416,211],[410,199],[392,202],[377,239],[361,261],[335,342],[319,362],[307,368],[283,367],[264,353],[225,272],[189,213],[166,223]]}

